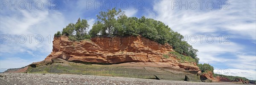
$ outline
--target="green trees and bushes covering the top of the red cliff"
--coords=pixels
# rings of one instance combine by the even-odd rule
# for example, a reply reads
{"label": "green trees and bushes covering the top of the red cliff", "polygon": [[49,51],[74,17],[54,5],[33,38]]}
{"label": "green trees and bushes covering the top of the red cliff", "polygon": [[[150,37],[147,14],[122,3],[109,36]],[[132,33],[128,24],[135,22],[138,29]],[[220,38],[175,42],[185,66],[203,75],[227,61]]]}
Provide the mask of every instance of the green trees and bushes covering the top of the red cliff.
{"label": "green trees and bushes covering the top of the red cliff", "polygon": [[184,37],[177,32],[174,32],[168,25],[163,22],[146,18],[142,16],[128,17],[124,11],[116,10],[115,8],[108,11],[101,11],[97,15],[96,21],[92,29],[87,33],[89,25],[87,20],[80,20],[76,24],[70,23],[63,28],[62,32],[55,33],[55,37],[64,35],[68,36],[72,41],[80,41],[93,37],[125,37],[125,36],[143,36],[159,44],[170,44],[175,52],[189,56],[195,59],[198,63],[197,49],[193,49],[186,41],[182,41]]}

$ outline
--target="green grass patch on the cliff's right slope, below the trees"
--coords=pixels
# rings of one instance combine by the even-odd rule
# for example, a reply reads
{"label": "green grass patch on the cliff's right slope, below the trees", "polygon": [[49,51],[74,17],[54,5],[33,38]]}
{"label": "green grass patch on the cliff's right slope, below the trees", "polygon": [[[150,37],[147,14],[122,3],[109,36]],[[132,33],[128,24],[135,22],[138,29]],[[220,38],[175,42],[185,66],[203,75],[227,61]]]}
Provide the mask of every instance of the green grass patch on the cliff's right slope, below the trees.
{"label": "green grass patch on the cliff's right slope, below the trees", "polygon": [[189,57],[189,56],[185,56],[185,55],[181,55],[177,52],[169,52],[169,54],[172,54],[172,55],[176,55],[178,59],[180,59],[180,63],[184,63],[184,61],[188,61],[188,62],[194,62],[196,63],[195,59]]}

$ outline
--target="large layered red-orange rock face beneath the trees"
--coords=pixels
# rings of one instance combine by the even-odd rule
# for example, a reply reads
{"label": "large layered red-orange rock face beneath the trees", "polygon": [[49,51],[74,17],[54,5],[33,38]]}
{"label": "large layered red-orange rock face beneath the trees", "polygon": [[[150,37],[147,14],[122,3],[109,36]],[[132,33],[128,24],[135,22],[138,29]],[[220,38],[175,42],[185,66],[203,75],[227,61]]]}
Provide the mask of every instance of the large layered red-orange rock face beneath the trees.
{"label": "large layered red-orange rock face beneath the trees", "polygon": [[[99,37],[91,41],[69,41],[68,37],[55,37],[53,49],[45,60],[32,64],[49,64],[52,58],[61,58],[67,61],[81,61],[92,63],[126,63],[151,62],[176,69],[199,71],[196,63],[179,63],[169,44],[161,45],[140,36],[134,37]],[[169,59],[163,58],[168,55]],[[166,65],[167,63],[167,65]]]}

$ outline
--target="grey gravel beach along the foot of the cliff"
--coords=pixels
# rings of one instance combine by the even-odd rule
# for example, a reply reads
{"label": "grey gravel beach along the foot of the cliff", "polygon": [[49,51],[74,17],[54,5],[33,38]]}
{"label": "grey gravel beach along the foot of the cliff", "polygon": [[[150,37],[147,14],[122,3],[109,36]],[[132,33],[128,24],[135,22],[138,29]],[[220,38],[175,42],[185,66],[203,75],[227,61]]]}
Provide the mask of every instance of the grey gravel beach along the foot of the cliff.
{"label": "grey gravel beach along the foot of the cliff", "polygon": [[[76,74],[1,73],[0,85],[235,85],[230,82],[186,82],[171,80],[104,77]],[[238,84],[239,85],[239,84]]]}

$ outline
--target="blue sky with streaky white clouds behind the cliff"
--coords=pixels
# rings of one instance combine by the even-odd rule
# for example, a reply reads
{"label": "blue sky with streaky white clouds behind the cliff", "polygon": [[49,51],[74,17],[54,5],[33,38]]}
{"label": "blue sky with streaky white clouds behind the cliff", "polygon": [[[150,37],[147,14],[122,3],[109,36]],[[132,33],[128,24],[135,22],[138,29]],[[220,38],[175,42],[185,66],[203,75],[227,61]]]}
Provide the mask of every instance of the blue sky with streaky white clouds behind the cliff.
{"label": "blue sky with streaky white clouds behind the cliff", "polygon": [[[54,33],[70,22],[75,23],[79,17],[87,19],[91,28],[99,11],[116,5],[127,16],[153,18],[187,35],[186,40],[199,50],[199,63],[211,64],[215,73],[224,74],[228,69],[226,75],[256,80],[255,0],[187,0],[186,6],[181,5],[186,1],[175,0],[35,0],[31,8],[27,0],[18,0],[17,9],[10,6],[15,0],[0,3],[1,70],[44,60],[52,52]],[[17,44],[10,40],[15,35]],[[196,42],[193,36],[197,36]]]}

